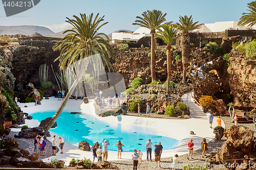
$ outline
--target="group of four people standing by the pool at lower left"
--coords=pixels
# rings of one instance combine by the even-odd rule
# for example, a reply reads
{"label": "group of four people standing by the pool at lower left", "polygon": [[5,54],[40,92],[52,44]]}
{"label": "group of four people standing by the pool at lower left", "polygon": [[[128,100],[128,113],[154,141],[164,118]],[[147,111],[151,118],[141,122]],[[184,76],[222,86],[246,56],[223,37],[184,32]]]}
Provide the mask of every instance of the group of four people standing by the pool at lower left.
{"label": "group of four people standing by the pool at lower left", "polygon": [[[44,129],[35,136],[34,138],[34,153],[37,151],[37,145],[39,144],[39,149],[40,149],[40,155],[45,156],[45,149],[46,149],[46,141],[44,139],[45,133]],[[64,139],[62,137],[58,137],[59,141],[55,138],[56,136],[54,135],[52,138],[52,155],[56,155],[56,149],[57,149],[57,143],[59,143],[59,147],[61,150],[61,154],[63,154],[63,145],[64,145]]]}

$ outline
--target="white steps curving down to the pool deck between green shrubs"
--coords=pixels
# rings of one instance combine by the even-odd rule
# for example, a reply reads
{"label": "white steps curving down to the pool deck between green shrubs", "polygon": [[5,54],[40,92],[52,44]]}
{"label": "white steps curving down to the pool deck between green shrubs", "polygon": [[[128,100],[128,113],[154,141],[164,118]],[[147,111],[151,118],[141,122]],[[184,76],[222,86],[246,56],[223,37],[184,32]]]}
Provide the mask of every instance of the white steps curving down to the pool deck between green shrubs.
{"label": "white steps curving down to the pool deck between green shrubs", "polygon": [[[193,92],[191,94],[194,96]],[[207,119],[206,113],[203,112],[201,106],[197,105],[194,102],[194,99],[192,98],[191,94],[189,91],[181,96],[182,102],[184,102],[189,107],[190,117]]]}

